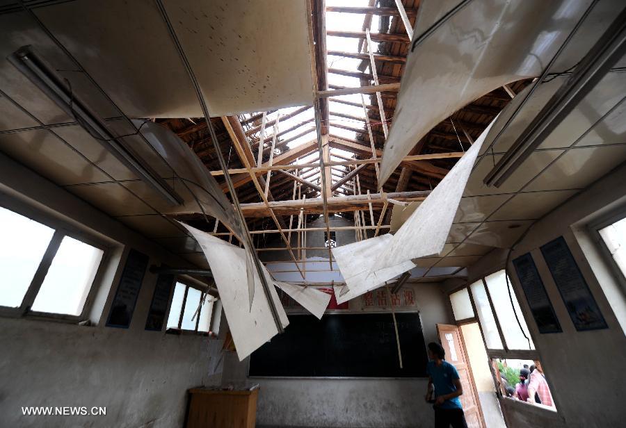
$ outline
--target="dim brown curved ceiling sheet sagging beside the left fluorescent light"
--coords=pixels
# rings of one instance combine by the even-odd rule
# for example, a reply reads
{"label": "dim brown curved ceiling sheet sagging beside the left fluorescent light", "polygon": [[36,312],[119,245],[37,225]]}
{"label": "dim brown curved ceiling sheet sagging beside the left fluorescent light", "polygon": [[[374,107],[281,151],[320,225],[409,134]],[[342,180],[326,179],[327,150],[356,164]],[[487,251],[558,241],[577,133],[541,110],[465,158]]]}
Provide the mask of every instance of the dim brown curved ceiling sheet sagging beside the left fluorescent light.
{"label": "dim brown curved ceiling sheet sagging beside the left fluorescent light", "polygon": [[[133,124],[145,136],[163,159],[157,158],[145,144],[133,145],[139,155],[150,165],[166,162],[180,177],[172,187],[184,199],[182,206],[164,206],[166,214],[204,213],[215,217],[243,240],[243,225],[234,208],[221,190],[216,179],[202,165],[200,158],[175,133],[154,122],[133,120]],[[169,179],[170,176],[164,178]]]}

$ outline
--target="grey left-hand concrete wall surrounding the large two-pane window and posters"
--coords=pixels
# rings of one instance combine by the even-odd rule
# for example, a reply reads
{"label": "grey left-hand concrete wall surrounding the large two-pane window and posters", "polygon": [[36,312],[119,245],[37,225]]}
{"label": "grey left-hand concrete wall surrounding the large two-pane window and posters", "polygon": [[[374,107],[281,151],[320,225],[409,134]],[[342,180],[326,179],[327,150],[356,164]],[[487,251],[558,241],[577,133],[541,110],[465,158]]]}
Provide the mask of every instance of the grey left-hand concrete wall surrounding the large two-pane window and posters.
{"label": "grey left-hand concrete wall surrounding the large two-pane window and posters", "polygon": [[[129,246],[150,264],[182,261],[0,154],[0,203],[20,200],[113,246],[95,286],[95,327],[0,318],[0,426],[182,427],[186,390],[209,379],[220,341],[145,331],[156,276],[147,272],[129,329],[104,327]],[[211,359],[209,360],[209,357]],[[22,406],[104,406],[106,416],[22,416]]]}

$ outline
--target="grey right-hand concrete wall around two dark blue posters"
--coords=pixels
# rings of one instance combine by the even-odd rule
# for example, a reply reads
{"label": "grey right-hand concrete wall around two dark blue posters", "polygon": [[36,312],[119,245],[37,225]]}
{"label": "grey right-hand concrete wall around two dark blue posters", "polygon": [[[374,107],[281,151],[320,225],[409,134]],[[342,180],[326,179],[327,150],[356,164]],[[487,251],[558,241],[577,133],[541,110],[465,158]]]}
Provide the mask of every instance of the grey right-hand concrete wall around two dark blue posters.
{"label": "grey right-hand concrete wall around two dark blue posters", "polygon": [[[590,223],[611,213],[626,212],[626,165],[613,170],[590,188],[556,208],[531,227],[515,247],[511,260],[531,252],[547,295],[552,302],[562,333],[539,334],[527,300],[509,265],[513,289],[533,342],[540,354],[552,389],[557,412],[513,400],[501,400],[509,428],[517,427],[623,427],[626,420],[626,384],[621,380],[626,367],[625,295],[611,261],[600,252]],[[556,288],[539,247],[563,236],[588,283],[608,329],[576,331]],[[499,270],[506,251],[494,251],[470,268],[470,282]]]}

